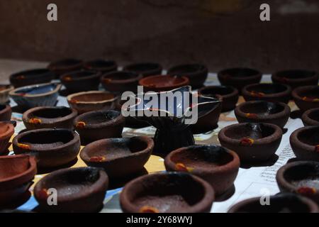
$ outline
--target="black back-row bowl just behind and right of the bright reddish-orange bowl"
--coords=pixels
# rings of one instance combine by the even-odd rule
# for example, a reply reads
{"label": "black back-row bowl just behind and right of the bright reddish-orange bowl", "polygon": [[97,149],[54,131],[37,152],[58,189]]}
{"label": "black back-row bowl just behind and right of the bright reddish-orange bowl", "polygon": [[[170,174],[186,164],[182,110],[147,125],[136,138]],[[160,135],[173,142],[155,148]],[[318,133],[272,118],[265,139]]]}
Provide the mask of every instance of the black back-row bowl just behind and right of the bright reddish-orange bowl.
{"label": "black back-row bowl just behind and right of the bright reddish-orange bowl", "polygon": [[172,76],[187,77],[189,78],[189,85],[193,89],[203,87],[203,83],[206,81],[208,76],[208,69],[205,65],[201,64],[185,64],[176,65],[171,67],[167,74]]}

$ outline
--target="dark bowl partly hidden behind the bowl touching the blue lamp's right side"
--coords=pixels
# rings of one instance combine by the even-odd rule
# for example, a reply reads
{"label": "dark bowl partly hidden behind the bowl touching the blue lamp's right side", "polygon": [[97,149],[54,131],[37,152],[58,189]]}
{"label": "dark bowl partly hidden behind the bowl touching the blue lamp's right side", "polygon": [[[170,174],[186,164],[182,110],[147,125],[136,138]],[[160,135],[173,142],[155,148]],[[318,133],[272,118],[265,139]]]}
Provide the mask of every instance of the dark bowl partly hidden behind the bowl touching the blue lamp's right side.
{"label": "dark bowl partly hidden behind the bowl touching the blue lamp's right side", "polygon": [[223,98],[222,112],[232,111],[235,109],[238,101],[238,90],[234,87],[226,86],[208,86],[198,89],[198,94],[202,96],[214,96],[219,94]]}

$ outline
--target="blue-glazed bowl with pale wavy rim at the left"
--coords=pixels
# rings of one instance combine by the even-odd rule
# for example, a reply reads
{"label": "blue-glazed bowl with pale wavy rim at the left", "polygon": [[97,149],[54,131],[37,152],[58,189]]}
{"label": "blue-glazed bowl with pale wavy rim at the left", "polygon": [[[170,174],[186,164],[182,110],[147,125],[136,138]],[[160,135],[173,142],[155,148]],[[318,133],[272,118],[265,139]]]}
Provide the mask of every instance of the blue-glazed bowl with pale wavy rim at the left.
{"label": "blue-glazed bowl with pale wavy rim at the left", "polygon": [[35,84],[12,90],[9,96],[22,108],[55,106],[61,84]]}

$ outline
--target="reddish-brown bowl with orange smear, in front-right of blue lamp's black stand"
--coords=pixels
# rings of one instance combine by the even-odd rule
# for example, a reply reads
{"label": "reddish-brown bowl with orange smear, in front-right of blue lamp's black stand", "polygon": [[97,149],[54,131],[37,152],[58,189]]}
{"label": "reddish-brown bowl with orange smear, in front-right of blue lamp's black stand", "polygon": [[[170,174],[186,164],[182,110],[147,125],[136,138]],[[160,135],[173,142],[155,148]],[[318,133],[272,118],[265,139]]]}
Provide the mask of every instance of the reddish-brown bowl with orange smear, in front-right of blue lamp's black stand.
{"label": "reddish-brown bowl with orange smear, in front-right of blue lamp's black stand", "polygon": [[211,184],[216,195],[223,194],[237,176],[237,154],[218,145],[193,145],[172,151],[164,161],[167,171],[189,172]]}

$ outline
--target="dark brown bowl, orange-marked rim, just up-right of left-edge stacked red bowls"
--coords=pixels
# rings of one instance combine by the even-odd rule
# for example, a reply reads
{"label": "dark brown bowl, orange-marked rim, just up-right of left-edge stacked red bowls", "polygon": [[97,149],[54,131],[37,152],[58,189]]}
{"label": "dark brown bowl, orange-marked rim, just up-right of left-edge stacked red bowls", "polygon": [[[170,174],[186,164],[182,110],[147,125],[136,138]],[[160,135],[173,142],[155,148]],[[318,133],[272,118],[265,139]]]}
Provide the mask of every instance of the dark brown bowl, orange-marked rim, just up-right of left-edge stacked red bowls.
{"label": "dark brown bowl, orange-marked rim, just up-right of left-edge stacked red bowls", "polygon": [[15,154],[34,154],[38,167],[59,167],[77,158],[80,150],[79,135],[64,128],[41,128],[19,133],[13,138]]}

